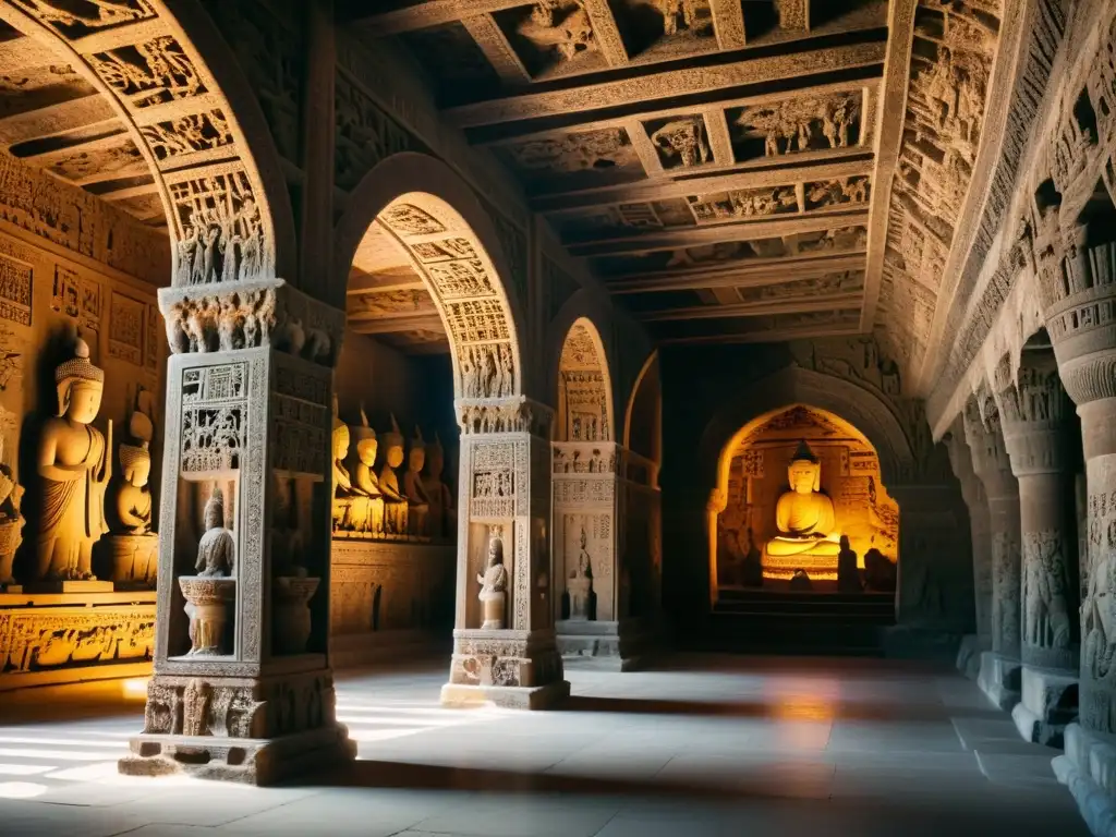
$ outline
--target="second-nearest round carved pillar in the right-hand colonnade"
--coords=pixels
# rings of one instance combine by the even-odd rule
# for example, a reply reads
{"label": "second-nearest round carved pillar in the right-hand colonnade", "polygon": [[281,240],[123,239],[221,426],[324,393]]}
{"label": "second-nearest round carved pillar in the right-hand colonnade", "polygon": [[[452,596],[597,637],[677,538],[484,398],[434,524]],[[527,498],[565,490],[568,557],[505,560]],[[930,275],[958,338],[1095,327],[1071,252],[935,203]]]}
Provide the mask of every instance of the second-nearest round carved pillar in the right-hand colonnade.
{"label": "second-nearest round carved pillar in the right-hand colonnade", "polygon": [[1019,481],[1022,702],[1028,741],[1060,744],[1077,713],[1077,549],[1070,402],[1049,349],[1027,349],[1016,379],[995,372],[995,402]]}

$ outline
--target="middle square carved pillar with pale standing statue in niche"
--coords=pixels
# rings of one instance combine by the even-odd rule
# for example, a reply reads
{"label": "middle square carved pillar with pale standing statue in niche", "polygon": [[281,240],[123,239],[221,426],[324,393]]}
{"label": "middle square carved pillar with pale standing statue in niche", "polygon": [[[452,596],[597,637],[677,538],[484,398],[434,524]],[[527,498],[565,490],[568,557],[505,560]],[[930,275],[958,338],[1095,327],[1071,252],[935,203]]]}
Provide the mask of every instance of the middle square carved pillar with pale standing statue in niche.
{"label": "middle square carved pillar with pale standing statue in niche", "polygon": [[554,413],[521,396],[456,408],[458,598],[442,703],[543,709],[569,695],[551,604]]}

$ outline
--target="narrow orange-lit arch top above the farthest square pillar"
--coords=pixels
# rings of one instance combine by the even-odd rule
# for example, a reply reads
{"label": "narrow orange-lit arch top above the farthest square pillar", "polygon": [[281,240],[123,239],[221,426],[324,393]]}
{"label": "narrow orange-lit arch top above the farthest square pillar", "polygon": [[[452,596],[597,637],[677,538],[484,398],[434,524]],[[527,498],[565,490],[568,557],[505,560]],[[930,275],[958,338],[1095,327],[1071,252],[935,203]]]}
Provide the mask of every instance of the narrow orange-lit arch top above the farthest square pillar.
{"label": "narrow orange-lit arch top above the farthest square pillar", "polygon": [[556,442],[615,440],[613,385],[600,333],[579,317],[566,333],[558,356]]}

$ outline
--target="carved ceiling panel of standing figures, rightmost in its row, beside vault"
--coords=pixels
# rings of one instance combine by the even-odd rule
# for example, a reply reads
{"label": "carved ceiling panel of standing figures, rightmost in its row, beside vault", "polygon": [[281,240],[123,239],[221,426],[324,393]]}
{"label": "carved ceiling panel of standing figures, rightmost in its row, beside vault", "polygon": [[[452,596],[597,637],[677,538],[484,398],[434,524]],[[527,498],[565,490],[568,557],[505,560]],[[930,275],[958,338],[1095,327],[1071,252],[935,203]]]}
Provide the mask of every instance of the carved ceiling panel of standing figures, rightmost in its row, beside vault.
{"label": "carved ceiling panel of standing figures, rightmost in its row, beside vault", "polygon": [[779,99],[730,108],[729,134],[737,162],[862,144],[859,90]]}

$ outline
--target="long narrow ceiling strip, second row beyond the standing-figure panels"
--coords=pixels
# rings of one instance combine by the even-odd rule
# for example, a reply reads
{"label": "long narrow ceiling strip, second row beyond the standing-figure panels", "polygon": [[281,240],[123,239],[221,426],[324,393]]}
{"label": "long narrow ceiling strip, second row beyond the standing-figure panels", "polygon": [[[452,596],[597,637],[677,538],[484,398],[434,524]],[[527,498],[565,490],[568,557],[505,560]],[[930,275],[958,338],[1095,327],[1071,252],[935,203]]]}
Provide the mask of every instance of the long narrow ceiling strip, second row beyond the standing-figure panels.
{"label": "long narrow ceiling strip, second row beyond the standing-figure panels", "polygon": [[661,270],[722,267],[760,259],[814,253],[848,253],[863,251],[868,232],[863,225],[835,227],[831,230],[782,235],[752,241],[724,241],[674,250],[654,250],[632,256],[609,256],[593,260],[603,276],[647,273]]}

